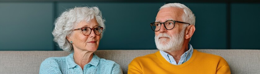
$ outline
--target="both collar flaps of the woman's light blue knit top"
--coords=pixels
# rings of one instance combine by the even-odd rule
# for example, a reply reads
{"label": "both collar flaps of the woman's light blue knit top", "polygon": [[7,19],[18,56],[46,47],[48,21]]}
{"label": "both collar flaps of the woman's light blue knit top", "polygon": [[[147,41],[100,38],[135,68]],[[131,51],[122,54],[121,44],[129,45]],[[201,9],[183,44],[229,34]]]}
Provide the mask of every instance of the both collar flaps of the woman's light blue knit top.
{"label": "both collar flaps of the woman's light blue knit top", "polygon": [[[71,54],[69,54],[66,57],[66,62],[67,62],[68,68],[74,68],[75,66],[77,66],[77,64],[74,61],[73,55],[74,55],[74,52],[72,52]],[[93,54],[92,60],[88,64],[91,64],[91,65],[97,67],[99,64],[99,60],[100,60],[100,58],[97,55]]]}

